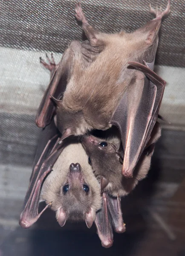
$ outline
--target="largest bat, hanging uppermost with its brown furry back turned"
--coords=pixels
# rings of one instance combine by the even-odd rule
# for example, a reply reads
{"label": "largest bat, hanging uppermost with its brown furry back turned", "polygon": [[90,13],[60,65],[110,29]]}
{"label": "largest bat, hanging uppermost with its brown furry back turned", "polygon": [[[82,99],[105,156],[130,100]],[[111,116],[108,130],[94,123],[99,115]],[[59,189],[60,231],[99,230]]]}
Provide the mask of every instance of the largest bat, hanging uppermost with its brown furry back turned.
{"label": "largest bat, hanging uppermost with its brown furry back turned", "polygon": [[65,50],[40,104],[37,125],[49,124],[55,109],[61,140],[116,125],[124,152],[121,173],[132,177],[165,89],[166,82],[153,72],[153,66],[159,28],[170,8],[170,0],[163,12],[150,6],[156,18],[140,29],[105,34],[90,26],[80,3],[76,4],[75,16],[88,40],[72,41]]}

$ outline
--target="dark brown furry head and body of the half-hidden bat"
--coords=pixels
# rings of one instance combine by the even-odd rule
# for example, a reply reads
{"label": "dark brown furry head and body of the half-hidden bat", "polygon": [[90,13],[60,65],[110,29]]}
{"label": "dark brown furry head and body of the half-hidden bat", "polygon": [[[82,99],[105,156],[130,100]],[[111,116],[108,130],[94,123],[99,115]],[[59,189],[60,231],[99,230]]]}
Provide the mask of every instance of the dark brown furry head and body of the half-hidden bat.
{"label": "dark brown furry head and body of the half-hidden bat", "polygon": [[[121,175],[122,163],[119,161],[119,155],[111,146],[111,143],[113,143],[116,148],[119,149],[120,140],[118,138],[110,137],[104,140],[93,136],[84,138],[82,144],[84,145],[87,154],[90,156],[95,176],[99,181],[101,176],[105,177],[109,181],[108,185],[104,189],[104,192],[107,192],[113,196],[124,196],[130,193],[130,191],[132,191],[137,185],[138,181],[146,177],[150,169],[151,157],[154,151],[154,143],[156,143],[160,136],[161,128],[159,123],[156,122],[147,148],[136,165],[136,169],[133,172],[133,177],[129,179]],[[102,141],[107,142],[107,147],[101,147],[99,145]]]}

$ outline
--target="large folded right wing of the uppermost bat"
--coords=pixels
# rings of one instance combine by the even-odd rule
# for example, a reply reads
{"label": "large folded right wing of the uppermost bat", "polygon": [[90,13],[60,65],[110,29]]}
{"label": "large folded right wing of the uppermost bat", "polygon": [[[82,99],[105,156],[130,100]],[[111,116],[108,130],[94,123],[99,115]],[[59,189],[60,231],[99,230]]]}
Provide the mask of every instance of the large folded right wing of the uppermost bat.
{"label": "large folded right wing of the uppermost bat", "polygon": [[122,174],[131,177],[157,120],[166,82],[145,65],[128,64],[141,72],[136,71],[132,84],[127,86],[111,123],[121,133]]}

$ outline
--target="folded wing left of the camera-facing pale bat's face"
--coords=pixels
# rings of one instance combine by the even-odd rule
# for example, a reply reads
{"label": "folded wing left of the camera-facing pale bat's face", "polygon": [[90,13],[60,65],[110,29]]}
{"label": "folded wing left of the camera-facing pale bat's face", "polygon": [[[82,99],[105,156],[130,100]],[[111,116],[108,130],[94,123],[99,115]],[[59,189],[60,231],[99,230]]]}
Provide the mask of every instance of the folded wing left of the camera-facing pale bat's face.
{"label": "folded wing left of the camera-facing pale bat's face", "polygon": [[[40,215],[49,207],[48,204],[40,213],[38,213],[40,188],[44,178],[52,170],[52,166],[64,148],[63,145],[58,145],[58,134],[55,134],[54,137],[49,138],[48,141],[46,140],[46,137],[53,135],[52,133],[55,133],[55,129],[53,130],[51,127],[47,128],[45,132],[43,131],[42,140],[46,141],[47,143],[46,145],[41,143],[38,147],[37,153],[40,155],[40,157],[32,171],[29,188],[26,192],[26,197],[23,204],[23,211],[20,215],[19,224],[23,228],[31,227],[32,224],[38,220]],[[44,135],[46,135],[46,137]],[[40,154],[40,150],[42,148],[43,151]]]}

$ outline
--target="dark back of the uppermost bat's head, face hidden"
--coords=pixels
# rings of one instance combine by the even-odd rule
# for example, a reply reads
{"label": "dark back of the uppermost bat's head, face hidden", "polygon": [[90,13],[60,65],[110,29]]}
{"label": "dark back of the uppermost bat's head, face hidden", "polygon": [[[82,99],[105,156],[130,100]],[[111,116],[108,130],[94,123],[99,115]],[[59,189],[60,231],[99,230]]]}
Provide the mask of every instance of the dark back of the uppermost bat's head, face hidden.
{"label": "dark back of the uppermost bat's head, face hidden", "polygon": [[62,103],[57,108],[57,127],[62,134],[61,140],[71,135],[83,135],[92,129],[85,121],[82,111],[66,109]]}

